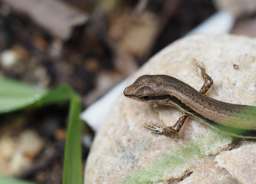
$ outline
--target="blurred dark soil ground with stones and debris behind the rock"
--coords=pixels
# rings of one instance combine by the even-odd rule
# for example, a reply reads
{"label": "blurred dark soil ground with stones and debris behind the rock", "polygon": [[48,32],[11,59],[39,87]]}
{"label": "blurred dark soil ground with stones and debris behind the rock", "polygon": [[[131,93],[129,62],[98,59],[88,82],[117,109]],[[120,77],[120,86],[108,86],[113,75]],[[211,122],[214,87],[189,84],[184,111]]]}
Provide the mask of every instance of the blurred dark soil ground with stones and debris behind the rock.
{"label": "blurred dark soil ground with stones and debris behind the rock", "polygon": [[[254,37],[255,4],[0,0],[0,75],[49,89],[68,84],[86,109],[152,55],[220,10],[234,18],[232,34]],[[67,114],[68,104],[57,104],[0,115],[0,173],[61,183]],[[83,146],[83,164],[95,133],[85,126],[84,134],[90,139]],[[26,154],[21,156],[17,148]]]}

